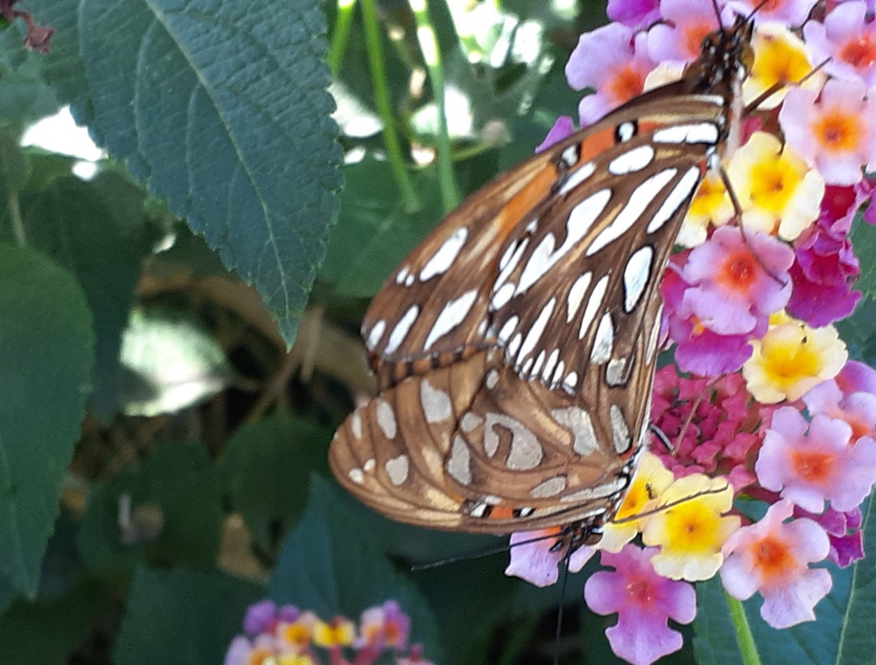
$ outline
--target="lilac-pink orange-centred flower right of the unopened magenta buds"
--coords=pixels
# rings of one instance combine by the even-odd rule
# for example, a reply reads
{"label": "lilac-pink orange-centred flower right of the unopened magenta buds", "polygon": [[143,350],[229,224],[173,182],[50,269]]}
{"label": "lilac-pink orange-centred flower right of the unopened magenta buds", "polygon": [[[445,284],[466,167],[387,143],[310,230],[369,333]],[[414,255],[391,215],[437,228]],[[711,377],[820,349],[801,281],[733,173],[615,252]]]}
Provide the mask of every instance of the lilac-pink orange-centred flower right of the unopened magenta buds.
{"label": "lilac-pink orange-centred flower right of the unopened magenta buds", "polygon": [[807,423],[795,408],[781,407],[754,465],[760,485],[809,513],[821,513],[825,499],[838,511],[852,510],[876,483],[876,441],[849,445],[850,436],[844,421],[816,415]]}

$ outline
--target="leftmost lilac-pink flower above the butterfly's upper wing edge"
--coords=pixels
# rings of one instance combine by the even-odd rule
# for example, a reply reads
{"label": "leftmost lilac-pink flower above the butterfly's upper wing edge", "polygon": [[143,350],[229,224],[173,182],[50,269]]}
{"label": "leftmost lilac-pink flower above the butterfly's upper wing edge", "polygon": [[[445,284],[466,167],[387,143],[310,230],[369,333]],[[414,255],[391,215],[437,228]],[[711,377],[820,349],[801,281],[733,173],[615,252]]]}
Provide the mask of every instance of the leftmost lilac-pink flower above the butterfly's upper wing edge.
{"label": "leftmost lilac-pink flower above the butterfly's upper wing edge", "polygon": [[595,88],[578,105],[582,126],[639,95],[654,67],[647,55],[646,34],[611,23],[581,36],[566,63],[566,78],[575,90]]}

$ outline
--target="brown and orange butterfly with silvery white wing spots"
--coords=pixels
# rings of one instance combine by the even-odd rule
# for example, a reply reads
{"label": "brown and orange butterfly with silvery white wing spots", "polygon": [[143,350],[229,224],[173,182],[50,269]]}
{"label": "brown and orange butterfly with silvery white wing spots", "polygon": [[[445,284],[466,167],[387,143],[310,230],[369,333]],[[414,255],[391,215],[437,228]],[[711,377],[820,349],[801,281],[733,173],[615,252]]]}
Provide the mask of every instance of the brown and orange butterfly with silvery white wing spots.
{"label": "brown and orange butterfly with silvery white wing spots", "polygon": [[734,145],[752,21],[682,80],[499,176],[386,280],[362,333],[378,396],[336,478],[378,513],[454,531],[599,540],[644,446],[658,287],[696,187]]}

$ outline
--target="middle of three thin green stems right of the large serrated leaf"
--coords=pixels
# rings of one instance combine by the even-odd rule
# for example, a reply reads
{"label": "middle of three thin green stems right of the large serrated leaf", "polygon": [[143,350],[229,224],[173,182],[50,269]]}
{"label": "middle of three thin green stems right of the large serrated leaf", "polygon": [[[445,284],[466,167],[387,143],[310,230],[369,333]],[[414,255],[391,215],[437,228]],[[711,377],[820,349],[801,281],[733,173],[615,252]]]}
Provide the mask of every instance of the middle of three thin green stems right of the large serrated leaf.
{"label": "middle of three thin green stems right of the large serrated leaf", "polygon": [[392,174],[401,190],[402,200],[408,212],[420,209],[420,199],[413,188],[407,173],[405,159],[401,154],[399,135],[395,131],[395,120],[389,103],[389,88],[386,86],[383,49],[380,46],[380,29],[374,0],[362,0],[362,23],[365,32],[365,47],[368,49],[368,63],[371,67],[371,86],[374,88],[374,101],[384,125],[384,145],[392,167]]}

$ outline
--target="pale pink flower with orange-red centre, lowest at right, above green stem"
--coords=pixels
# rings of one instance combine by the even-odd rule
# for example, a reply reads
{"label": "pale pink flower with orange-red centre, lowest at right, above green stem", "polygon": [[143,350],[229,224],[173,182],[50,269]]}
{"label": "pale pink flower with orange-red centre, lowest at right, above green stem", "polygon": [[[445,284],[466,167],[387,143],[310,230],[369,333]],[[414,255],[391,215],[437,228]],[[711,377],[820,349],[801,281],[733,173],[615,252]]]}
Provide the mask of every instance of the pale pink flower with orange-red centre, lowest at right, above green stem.
{"label": "pale pink flower with orange-red centre, lowest at right, above green stem", "polygon": [[832,584],[827,570],[808,565],[827,556],[827,534],[812,520],[784,524],[793,511],[790,501],[781,500],[724,543],[724,589],[739,600],[759,591],[764,598],[760,616],[774,628],[814,620],[813,608]]}

